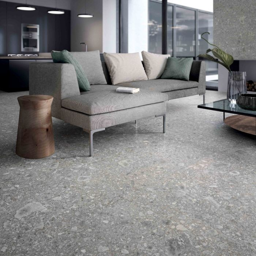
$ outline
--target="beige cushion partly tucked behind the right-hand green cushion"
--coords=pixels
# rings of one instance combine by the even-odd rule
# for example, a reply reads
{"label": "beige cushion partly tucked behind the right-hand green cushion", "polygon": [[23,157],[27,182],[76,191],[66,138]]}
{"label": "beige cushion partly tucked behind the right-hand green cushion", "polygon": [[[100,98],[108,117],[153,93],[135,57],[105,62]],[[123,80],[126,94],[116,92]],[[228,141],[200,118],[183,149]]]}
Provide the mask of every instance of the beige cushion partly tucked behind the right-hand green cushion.
{"label": "beige cushion partly tucked behind the right-hand green cushion", "polygon": [[159,78],[165,70],[165,65],[170,54],[155,54],[145,51],[141,53],[148,80]]}

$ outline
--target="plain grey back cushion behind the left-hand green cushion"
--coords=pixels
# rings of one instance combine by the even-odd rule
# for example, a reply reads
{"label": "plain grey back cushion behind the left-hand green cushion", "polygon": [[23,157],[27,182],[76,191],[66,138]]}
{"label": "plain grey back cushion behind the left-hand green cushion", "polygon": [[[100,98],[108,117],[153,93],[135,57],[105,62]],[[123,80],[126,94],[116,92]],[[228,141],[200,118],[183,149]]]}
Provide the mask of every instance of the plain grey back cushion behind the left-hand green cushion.
{"label": "plain grey back cushion behind the left-hand green cushion", "polygon": [[99,51],[71,52],[82,66],[90,84],[106,84]]}

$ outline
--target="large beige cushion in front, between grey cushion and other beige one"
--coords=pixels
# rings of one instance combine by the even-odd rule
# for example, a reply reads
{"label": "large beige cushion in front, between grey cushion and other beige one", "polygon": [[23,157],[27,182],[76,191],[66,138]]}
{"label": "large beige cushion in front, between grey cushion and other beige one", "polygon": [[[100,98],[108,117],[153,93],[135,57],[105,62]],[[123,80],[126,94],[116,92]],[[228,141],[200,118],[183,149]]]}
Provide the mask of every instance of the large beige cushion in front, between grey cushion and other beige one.
{"label": "large beige cushion in front, between grey cushion and other beige one", "polygon": [[147,80],[139,53],[103,53],[112,84]]}

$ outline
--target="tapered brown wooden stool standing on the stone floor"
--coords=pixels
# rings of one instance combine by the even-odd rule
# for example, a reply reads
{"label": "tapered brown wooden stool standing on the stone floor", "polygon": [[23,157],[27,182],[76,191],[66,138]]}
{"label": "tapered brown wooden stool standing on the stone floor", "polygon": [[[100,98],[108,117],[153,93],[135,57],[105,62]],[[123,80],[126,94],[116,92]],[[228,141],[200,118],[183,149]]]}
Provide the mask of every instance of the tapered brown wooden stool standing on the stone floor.
{"label": "tapered brown wooden stool standing on the stone floor", "polygon": [[43,158],[54,153],[49,95],[18,97],[20,105],[16,154],[24,158]]}

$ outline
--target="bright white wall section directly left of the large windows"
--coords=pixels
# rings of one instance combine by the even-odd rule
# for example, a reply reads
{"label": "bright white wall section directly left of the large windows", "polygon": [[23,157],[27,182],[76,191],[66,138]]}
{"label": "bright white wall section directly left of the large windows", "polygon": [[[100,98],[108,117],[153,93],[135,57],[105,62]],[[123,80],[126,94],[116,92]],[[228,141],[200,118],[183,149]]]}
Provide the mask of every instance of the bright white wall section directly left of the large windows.
{"label": "bright white wall section directly left of the large windows", "polygon": [[148,0],[129,0],[128,52],[148,50]]}

